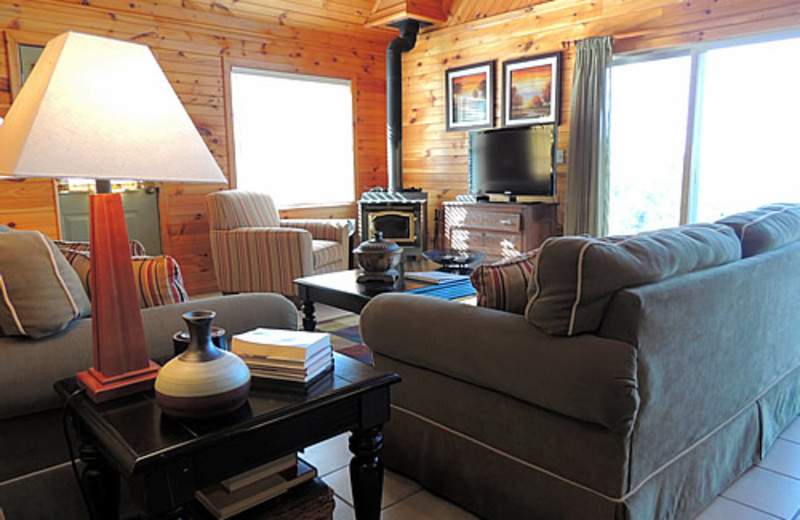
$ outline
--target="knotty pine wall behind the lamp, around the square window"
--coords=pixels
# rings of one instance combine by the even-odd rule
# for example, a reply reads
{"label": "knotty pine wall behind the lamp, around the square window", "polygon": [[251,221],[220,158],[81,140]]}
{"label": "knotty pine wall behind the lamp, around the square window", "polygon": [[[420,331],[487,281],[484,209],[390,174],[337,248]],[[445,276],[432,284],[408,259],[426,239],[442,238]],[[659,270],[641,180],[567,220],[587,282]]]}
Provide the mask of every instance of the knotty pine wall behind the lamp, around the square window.
{"label": "knotty pine wall behind the lamp, around the square window", "polygon": [[[355,94],[356,188],[385,185],[385,49],[389,30],[328,32],[182,8],[181,0],[0,0],[0,30],[38,43],[77,30],[149,45],[219,162],[231,173],[223,60],[286,72],[344,77]],[[0,52],[0,117],[11,103],[7,46]],[[166,184],[160,191],[164,252],[174,256],[190,294],[217,290],[208,246],[205,195],[219,186]],[[0,180],[0,222],[58,237],[51,181]],[[293,210],[288,217],[352,217],[355,205]]]}

